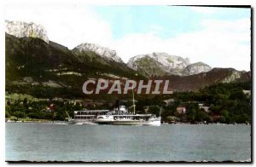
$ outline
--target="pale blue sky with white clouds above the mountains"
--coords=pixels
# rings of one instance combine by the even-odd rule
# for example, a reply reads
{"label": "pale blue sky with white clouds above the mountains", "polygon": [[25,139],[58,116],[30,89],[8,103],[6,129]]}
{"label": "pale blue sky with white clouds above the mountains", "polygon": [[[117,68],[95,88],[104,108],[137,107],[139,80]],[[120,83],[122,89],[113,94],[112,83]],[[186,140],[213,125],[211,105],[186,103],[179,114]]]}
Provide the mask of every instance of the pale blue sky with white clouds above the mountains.
{"label": "pale blue sky with white clouds above the mountains", "polygon": [[[22,8],[20,8],[20,5]],[[7,3],[5,20],[44,26],[49,40],[73,49],[96,43],[127,62],[166,52],[212,67],[250,70],[251,9],[185,6],[88,6],[83,3]]]}

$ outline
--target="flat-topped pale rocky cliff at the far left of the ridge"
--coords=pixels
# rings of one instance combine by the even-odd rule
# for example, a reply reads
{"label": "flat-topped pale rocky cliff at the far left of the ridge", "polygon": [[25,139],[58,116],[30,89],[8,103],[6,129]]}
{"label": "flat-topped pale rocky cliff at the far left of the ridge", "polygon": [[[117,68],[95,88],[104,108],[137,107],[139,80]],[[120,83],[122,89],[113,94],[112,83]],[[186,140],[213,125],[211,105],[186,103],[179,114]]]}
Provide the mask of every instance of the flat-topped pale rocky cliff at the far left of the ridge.
{"label": "flat-topped pale rocky cliff at the far left of the ridge", "polygon": [[38,37],[49,43],[47,32],[43,26],[23,21],[5,20],[5,32],[15,37]]}

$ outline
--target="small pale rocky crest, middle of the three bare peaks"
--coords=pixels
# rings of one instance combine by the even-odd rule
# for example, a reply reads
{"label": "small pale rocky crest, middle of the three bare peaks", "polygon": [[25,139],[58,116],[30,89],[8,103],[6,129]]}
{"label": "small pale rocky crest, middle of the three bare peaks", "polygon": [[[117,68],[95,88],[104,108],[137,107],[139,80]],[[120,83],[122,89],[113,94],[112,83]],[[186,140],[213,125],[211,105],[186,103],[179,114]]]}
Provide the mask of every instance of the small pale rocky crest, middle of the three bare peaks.
{"label": "small pale rocky crest, middle of the three bare peaks", "polygon": [[95,52],[97,55],[102,56],[103,58],[107,58],[108,60],[114,60],[119,63],[124,63],[123,60],[117,55],[115,50],[108,49],[97,45],[95,43],[81,43],[79,46],[75,47],[73,50],[75,51],[92,51]]}

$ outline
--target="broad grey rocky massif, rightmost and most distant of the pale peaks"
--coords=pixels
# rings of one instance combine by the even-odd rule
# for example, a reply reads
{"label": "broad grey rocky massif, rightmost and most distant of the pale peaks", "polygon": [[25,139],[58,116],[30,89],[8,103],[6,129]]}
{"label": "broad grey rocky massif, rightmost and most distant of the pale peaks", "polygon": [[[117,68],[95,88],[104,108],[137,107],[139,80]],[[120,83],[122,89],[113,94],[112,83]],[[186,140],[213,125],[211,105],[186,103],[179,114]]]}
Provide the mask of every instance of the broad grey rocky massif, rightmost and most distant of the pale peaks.
{"label": "broad grey rocky massif, rightmost and most distant of the pale peaks", "polygon": [[137,55],[132,57],[127,66],[143,73],[145,76],[178,75],[189,76],[201,72],[209,72],[211,66],[203,62],[190,64],[189,58],[166,53],[153,53],[148,55]]}

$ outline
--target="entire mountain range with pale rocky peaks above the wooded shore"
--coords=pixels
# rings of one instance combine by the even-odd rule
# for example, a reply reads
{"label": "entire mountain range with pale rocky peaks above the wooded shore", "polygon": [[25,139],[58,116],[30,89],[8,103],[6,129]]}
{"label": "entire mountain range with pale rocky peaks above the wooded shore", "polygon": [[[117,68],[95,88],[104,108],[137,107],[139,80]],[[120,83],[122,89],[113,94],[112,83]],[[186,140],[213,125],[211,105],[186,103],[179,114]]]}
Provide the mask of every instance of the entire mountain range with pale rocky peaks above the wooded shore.
{"label": "entire mountain range with pale rocky peaks above the wooded shore", "polygon": [[[35,96],[84,97],[87,79],[169,79],[177,91],[198,90],[214,83],[248,81],[250,72],[212,68],[166,53],[136,55],[127,64],[113,49],[81,43],[68,49],[50,41],[43,26],[5,21],[6,91]],[[47,91],[45,90],[47,89]]]}

